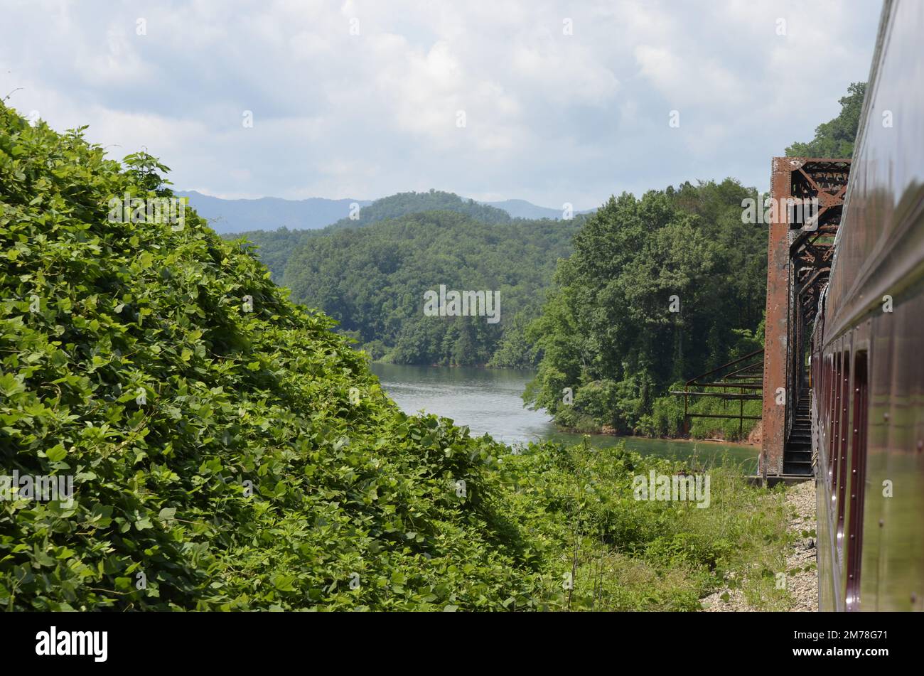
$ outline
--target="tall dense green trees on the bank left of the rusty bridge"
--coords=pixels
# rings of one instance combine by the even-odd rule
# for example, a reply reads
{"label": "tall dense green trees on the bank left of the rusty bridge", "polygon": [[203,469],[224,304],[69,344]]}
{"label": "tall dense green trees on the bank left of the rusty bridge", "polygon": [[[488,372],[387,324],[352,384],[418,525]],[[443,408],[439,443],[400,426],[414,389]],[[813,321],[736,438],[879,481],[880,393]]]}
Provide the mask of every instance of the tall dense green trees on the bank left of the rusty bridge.
{"label": "tall dense green trees on the bank left of the rusty bridge", "polygon": [[687,183],[590,216],[529,328],[543,357],[527,400],[565,428],[676,434],[653,416],[669,385],[760,346],[767,234],[742,223],[744,199],[731,179]]}

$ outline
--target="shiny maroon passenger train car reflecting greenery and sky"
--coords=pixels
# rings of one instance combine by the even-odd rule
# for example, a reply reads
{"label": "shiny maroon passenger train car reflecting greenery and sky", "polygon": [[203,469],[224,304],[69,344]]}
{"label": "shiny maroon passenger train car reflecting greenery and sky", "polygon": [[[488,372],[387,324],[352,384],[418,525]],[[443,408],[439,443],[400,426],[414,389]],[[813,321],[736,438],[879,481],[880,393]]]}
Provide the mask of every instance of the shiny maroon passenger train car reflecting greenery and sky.
{"label": "shiny maroon passenger train car reflecting greenery and sky", "polygon": [[884,4],[812,332],[821,610],[924,610],[922,35]]}

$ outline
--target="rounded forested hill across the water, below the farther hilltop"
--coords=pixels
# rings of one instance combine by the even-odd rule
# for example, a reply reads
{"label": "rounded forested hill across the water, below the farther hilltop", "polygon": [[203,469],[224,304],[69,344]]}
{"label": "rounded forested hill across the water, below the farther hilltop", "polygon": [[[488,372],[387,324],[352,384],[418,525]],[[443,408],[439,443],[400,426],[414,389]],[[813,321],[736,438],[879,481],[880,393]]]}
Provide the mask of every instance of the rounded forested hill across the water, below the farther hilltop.
{"label": "rounded forested hill across the water, below the farther hilltop", "polygon": [[[530,365],[534,354],[522,330],[538,314],[579,222],[483,223],[454,211],[412,213],[307,238],[282,283],[293,299],[338,320],[373,358]],[[424,292],[440,284],[500,292],[500,321],[425,316]]]}

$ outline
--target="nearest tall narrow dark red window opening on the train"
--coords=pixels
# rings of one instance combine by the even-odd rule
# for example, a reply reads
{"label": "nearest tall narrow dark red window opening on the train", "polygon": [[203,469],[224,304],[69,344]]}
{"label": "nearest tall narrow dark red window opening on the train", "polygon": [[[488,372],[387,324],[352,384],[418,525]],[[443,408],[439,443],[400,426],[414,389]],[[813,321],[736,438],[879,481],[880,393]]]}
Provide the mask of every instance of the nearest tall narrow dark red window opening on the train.
{"label": "nearest tall narrow dark red window opening on the train", "polygon": [[863,492],[866,484],[868,376],[867,352],[854,357],[853,439],[850,458],[850,518],[847,523],[847,610],[859,610],[860,551],[863,546]]}

